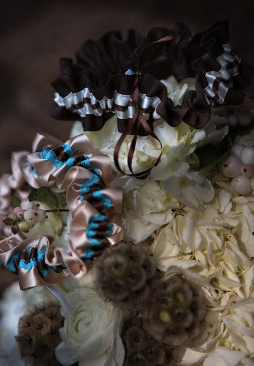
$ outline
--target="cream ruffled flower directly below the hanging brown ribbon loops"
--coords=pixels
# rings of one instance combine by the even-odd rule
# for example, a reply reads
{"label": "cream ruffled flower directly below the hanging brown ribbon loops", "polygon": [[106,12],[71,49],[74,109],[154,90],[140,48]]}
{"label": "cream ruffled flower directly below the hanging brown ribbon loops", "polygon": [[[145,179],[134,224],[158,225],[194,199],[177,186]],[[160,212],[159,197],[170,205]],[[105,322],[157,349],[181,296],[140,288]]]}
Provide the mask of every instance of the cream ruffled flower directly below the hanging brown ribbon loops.
{"label": "cream ruffled flower directly below the hanging brown ribbon loops", "polygon": [[[119,178],[113,181],[119,184]],[[178,208],[179,202],[173,199],[155,180],[129,178],[123,186],[123,212],[121,223],[126,240],[139,243],[154,230],[170,222],[172,208]]]}

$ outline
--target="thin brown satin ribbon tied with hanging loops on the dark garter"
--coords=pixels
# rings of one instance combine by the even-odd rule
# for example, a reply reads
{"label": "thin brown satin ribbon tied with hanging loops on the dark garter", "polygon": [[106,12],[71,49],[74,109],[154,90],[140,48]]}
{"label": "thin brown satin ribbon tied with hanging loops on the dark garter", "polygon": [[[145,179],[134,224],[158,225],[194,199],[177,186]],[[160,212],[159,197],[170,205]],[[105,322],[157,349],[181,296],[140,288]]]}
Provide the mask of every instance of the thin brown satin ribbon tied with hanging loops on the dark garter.
{"label": "thin brown satin ribbon tied with hanging loops on the dark garter", "polygon": [[[138,62],[138,70],[137,70],[137,75],[133,84],[133,91],[131,93],[131,98],[132,98],[132,102],[135,106],[135,113],[133,118],[131,119],[128,128],[124,131],[124,133],[122,133],[122,135],[120,136],[120,138],[118,139],[115,149],[114,149],[114,163],[115,166],[117,168],[117,170],[127,176],[130,177],[135,177],[138,179],[145,179],[149,176],[152,168],[156,165],[158,165],[158,163],[161,160],[161,156],[162,156],[162,152],[160,153],[160,155],[157,157],[156,161],[154,162],[154,164],[142,171],[142,172],[138,172],[138,173],[134,173],[133,172],[133,168],[132,168],[132,160],[133,160],[133,156],[134,156],[134,152],[135,152],[135,147],[136,147],[136,143],[137,143],[137,138],[138,138],[138,130],[139,130],[139,126],[141,125],[144,130],[147,132],[147,135],[150,135],[151,137],[153,137],[155,140],[158,141],[158,143],[160,144],[160,148],[162,149],[162,143],[160,141],[160,139],[156,136],[156,134],[153,132],[152,128],[149,126],[149,124],[147,123],[147,121],[145,120],[144,116],[143,116],[143,112],[140,108],[140,90],[139,90],[139,84],[140,84],[140,77],[142,75],[142,72],[145,68],[147,68],[148,66],[157,63],[157,62],[162,62],[164,60],[167,60],[168,58],[168,54],[171,51],[168,50],[164,55],[162,56],[158,56],[158,54],[160,54],[162,47],[164,46],[165,43],[169,42],[170,40],[172,40],[174,38],[174,34],[170,34],[158,41],[152,42],[150,44],[148,44],[147,46],[145,46],[145,48],[142,50],[140,57],[139,57],[139,62]],[[152,49],[154,48],[154,50],[152,51]],[[148,61],[147,61],[148,58]],[[121,145],[125,139],[125,137],[128,135],[128,133],[133,129],[133,127],[136,127],[136,131],[134,134],[134,137],[132,139],[131,142],[131,146],[130,149],[128,151],[128,157],[127,157],[127,162],[128,162],[128,167],[131,171],[131,174],[127,174],[125,172],[122,171],[120,164],[119,164],[119,160],[118,160],[118,155],[119,155],[119,151],[121,148]]]}

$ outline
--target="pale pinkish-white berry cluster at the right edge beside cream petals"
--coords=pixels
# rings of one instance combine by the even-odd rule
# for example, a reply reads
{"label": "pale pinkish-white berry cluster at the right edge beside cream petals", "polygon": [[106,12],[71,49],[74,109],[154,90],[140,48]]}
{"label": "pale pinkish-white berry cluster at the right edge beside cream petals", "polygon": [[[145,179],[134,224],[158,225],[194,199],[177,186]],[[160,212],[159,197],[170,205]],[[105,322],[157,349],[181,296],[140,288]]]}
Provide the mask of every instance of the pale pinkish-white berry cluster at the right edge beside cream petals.
{"label": "pale pinkish-white berry cluster at the right edge beside cream petals", "polygon": [[254,146],[234,145],[230,154],[222,159],[218,168],[226,177],[233,178],[233,192],[247,195],[254,190]]}

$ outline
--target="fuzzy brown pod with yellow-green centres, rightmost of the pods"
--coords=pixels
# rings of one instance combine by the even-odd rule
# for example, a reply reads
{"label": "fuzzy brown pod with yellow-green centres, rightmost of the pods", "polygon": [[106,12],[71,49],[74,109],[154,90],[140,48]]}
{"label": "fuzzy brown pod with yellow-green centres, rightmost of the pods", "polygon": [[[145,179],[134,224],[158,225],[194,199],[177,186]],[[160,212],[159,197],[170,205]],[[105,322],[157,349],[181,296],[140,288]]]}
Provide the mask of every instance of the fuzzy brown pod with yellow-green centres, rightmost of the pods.
{"label": "fuzzy brown pod with yellow-green centres, rightmost of the pods", "polygon": [[206,305],[201,289],[183,275],[154,281],[141,312],[143,326],[159,342],[186,346],[200,335]]}

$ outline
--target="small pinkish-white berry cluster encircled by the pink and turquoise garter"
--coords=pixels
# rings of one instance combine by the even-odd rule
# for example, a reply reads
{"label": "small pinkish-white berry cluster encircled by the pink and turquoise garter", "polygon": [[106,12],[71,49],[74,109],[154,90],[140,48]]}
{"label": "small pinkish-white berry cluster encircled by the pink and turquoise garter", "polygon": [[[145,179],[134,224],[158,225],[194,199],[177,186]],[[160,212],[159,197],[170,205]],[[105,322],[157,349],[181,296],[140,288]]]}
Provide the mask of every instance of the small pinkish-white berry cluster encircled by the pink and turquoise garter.
{"label": "small pinkish-white berry cluster encircled by the pink and turquoise garter", "polygon": [[12,227],[12,233],[17,234],[19,231],[28,233],[37,222],[43,222],[47,218],[46,211],[39,209],[40,204],[35,201],[29,201],[28,198],[21,201],[20,206],[15,207],[3,222]]}

